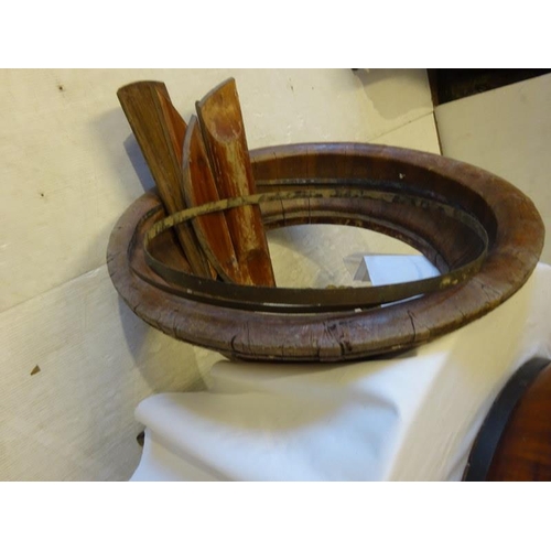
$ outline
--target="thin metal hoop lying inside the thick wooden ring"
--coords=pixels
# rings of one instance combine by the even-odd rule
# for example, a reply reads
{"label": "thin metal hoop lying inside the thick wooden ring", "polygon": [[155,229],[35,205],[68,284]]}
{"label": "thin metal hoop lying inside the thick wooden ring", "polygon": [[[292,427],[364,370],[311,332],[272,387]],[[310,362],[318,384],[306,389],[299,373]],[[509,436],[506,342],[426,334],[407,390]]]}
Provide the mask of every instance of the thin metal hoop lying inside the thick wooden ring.
{"label": "thin metal hoop lying inside the thick wooden ring", "polygon": [[[272,182],[273,184],[273,182]],[[277,183],[293,191],[267,192],[255,195],[233,197],[215,203],[208,203],[198,207],[188,208],[169,216],[156,224],[145,234],[144,255],[147,263],[166,282],[172,283],[171,292],[191,300],[205,302],[238,310],[273,312],[273,313],[316,313],[339,312],[356,309],[370,309],[386,303],[402,301],[430,292],[444,290],[457,285],[472,278],[480,269],[488,252],[489,239],[485,227],[471,213],[461,206],[449,204],[437,198],[429,198],[423,194],[415,194],[414,188],[404,193],[399,183],[374,183],[374,182],[313,182],[307,180],[285,180]],[[306,188],[304,188],[306,187]],[[155,237],[162,233],[193,220],[194,218],[229,208],[239,208],[247,205],[280,204],[280,216],[272,216],[274,225],[292,225],[293,216],[285,215],[284,205],[293,202],[307,202],[306,210],[311,215],[310,202],[313,199],[328,199],[317,205],[318,215],[323,217],[324,209],[331,213],[331,204],[335,199],[349,201],[348,216],[354,219],[361,218],[363,205],[366,202],[380,202],[385,204],[407,205],[420,209],[424,216],[437,213],[450,220],[458,223],[475,236],[473,246],[460,266],[454,267],[447,273],[423,280],[398,283],[391,285],[378,285],[367,288],[347,289],[292,289],[292,288],[264,288],[253,285],[240,285],[199,278],[197,276],[176,270],[154,257],[151,245]],[[300,213],[300,210],[299,210]],[[364,219],[363,227],[369,228],[369,220]],[[385,219],[370,220],[374,225],[385,226]],[[411,220],[410,220],[411,222]],[[395,228],[396,229],[396,228]],[[398,237],[400,238],[400,228]],[[411,224],[402,228],[403,234],[414,233]],[[141,276],[141,274],[140,274]],[[143,277],[143,276],[141,276]],[[162,288],[158,282],[148,282]]]}

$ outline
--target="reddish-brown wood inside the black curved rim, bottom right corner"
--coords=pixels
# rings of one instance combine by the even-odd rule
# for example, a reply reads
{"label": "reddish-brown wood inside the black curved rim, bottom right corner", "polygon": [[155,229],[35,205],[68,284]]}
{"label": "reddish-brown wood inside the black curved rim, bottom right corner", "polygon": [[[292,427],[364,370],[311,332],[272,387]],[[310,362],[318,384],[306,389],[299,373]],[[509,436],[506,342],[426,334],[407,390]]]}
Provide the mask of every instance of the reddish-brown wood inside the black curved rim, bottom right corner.
{"label": "reddish-brown wood inside the black curved rim, bottom right corner", "polygon": [[511,413],[486,479],[551,480],[551,364]]}

